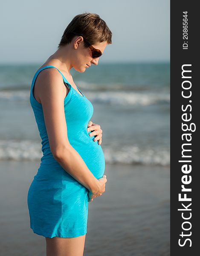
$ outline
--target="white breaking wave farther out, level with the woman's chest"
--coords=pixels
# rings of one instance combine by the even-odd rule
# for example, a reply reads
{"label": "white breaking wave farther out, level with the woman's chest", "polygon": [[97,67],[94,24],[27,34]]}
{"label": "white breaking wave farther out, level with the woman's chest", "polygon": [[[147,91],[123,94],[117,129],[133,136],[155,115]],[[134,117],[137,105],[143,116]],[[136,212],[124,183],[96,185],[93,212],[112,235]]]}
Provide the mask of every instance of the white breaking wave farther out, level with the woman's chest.
{"label": "white breaking wave farther out, level with the woman's chest", "polygon": [[[82,91],[83,92],[83,91]],[[84,93],[84,92],[83,92]],[[0,100],[29,101],[30,92],[27,90],[0,91]],[[128,91],[106,91],[86,92],[85,96],[93,103],[104,103],[108,105],[152,105],[157,103],[169,103],[169,93],[150,92],[128,92]]]}

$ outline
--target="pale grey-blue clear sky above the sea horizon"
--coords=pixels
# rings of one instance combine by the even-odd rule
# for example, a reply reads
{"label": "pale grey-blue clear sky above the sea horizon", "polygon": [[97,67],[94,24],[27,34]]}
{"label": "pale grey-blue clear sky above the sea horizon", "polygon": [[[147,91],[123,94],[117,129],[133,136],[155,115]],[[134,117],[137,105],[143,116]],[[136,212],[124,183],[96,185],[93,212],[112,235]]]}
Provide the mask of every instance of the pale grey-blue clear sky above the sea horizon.
{"label": "pale grey-blue clear sky above the sea horizon", "polygon": [[84,12],[113,33],[101,63],[170,61],[170,0],[10,0],[1,3],[0,64],[43,63]]}

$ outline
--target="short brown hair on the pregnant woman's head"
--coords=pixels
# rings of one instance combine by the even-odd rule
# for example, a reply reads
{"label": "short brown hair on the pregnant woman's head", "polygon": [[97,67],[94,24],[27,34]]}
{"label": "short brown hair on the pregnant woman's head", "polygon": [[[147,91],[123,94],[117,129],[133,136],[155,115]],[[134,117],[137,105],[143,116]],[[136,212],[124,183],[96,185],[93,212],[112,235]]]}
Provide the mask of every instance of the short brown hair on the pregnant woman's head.
{"label": "short brown hair on the pregnant woman's head", "polygon": [[[76,15],[65,29],[58,48],[70,44],[75,36],[72,32],[83,36],[89,44],[98,44],[104,41],[107,41],[107,44],[112,44],[112,32],[96,13],[85,12]],[[87,45],[84,44],[84,47],[86,48]]]}

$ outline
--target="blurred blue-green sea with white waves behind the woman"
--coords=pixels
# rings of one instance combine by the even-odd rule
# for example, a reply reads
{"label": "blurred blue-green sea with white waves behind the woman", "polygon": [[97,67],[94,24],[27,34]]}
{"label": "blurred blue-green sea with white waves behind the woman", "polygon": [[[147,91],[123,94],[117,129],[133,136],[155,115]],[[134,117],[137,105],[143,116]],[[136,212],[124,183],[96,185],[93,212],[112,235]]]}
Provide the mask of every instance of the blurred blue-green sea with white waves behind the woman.
{"label": "blurred blue-green sea with white waves behind the woman", "polygon": [[[0,160],[42,157],[29,103],[32,78],[41,64],[0,66]],[[107,163],[170,165],[169,63],[103,63],[70,73],[93,104],[91,121],[103,130]]]}

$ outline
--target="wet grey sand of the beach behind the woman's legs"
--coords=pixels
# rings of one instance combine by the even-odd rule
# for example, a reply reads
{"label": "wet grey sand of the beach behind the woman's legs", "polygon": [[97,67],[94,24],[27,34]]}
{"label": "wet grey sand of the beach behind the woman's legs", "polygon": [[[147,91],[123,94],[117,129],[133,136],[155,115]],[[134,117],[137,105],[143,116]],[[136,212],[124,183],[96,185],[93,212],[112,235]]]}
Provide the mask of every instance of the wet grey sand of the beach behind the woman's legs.
{"label": "wet grey sand of the beach behind the woman's legs", "polygon": [[[39,163],[0,161],[0,255],[45,256],[29,227],[27,192]],[[170,170],[106,163],[106,192],[89,203],[84,256],[170,255]]]}

